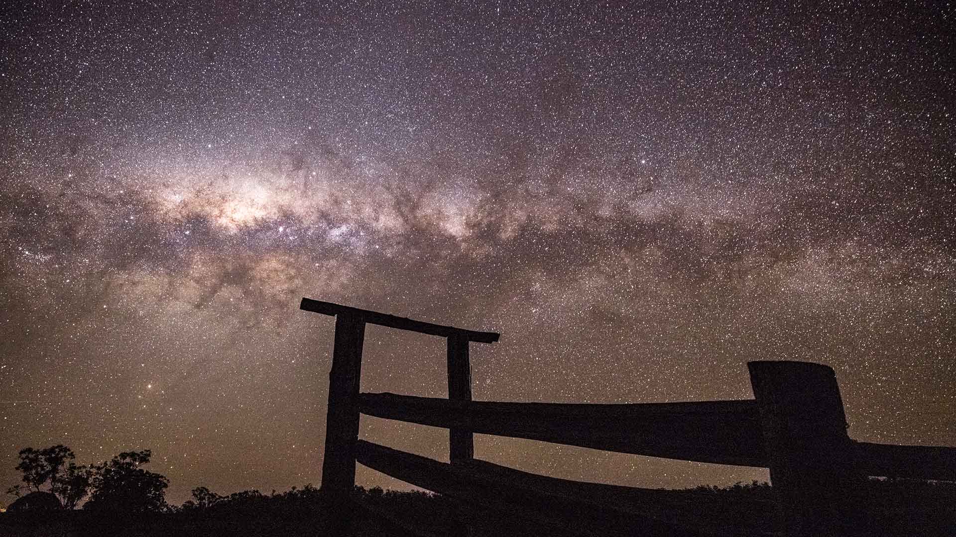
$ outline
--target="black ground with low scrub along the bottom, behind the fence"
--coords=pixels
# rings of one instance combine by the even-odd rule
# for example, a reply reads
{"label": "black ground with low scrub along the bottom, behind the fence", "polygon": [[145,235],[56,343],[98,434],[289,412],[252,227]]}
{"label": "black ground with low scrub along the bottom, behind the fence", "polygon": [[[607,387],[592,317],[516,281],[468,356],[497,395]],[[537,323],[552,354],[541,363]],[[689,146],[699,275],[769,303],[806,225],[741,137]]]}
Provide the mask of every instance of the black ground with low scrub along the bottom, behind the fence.
{"label": "black ground with low scrub along the bottom, behind the fence", "polygon": [[[714,535],[757,535],[773,530],[771,487],[766,484],[693,490],[646,490],[641,511]],[[956,535],[956,483],[870,482],[850,493],[859,505],[847,535]],[[354,512],[356,535],[564,535],[559,527],[524,521],[514,513],[477,510],[423,492],[356,488],[363,508]],[[516,506],[515,511],[520,511]],[[215,505],[166,513],[116,516],[89,511],[0,514],[0,537],[45,536],[297,536],[320,535],[334,512],[314,488],[280,495],[239,493]],[[384,515],[384,516],[382,516]],[[465,521],[464,523],[461,521]]]}

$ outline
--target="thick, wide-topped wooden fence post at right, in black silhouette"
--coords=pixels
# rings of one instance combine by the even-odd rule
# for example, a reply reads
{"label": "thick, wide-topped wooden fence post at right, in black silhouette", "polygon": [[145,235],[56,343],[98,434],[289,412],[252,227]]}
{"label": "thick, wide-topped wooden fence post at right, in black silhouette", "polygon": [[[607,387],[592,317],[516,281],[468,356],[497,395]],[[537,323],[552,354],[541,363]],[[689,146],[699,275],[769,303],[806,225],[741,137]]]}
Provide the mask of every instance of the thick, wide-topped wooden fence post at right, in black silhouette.
{"label": "thick, wide-topped wooden fence post at right, in black silhouette", "polygon": [[747,366],[784,534],[840,534],[844,491],[854,473],[834,370],[795,361]]}

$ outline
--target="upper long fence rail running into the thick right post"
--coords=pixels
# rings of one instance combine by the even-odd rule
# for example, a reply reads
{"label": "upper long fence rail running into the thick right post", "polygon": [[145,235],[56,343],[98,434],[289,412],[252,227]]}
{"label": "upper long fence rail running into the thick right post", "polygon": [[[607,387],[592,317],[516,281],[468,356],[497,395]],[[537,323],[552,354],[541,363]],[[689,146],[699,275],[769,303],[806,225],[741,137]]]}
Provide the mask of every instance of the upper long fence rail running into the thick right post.
{"label": "upper long fence rail running into the thick right post", "polygon": [[378,418],[619,453],[743,466],[768,462],[753,400],[576,404],[360,394],[359,411]]}

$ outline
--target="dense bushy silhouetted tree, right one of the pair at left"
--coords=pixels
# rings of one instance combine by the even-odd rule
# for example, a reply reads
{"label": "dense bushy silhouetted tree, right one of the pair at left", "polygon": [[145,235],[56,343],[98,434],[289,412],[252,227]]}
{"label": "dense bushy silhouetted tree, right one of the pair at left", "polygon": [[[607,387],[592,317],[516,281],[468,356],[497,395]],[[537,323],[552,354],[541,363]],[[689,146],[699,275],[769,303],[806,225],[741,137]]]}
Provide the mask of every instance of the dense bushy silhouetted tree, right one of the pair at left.
{"label": "dense bushy silhouetted tree, right one of the pair at left", "polygon": [[83,508],[124,513],[165,510],[169,480],[140,467],[149,462],[151,455],[148,449],[127,451],[112,461],[93,465],[94,492]]}

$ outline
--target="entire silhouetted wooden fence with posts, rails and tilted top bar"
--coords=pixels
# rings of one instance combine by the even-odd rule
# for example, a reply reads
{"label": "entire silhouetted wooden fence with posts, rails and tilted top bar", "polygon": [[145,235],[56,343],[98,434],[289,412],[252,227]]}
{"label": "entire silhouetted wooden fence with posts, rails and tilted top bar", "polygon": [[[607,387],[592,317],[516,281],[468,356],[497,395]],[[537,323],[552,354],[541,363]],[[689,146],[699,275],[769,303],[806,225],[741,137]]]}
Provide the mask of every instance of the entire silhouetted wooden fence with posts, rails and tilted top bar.
{"label": "entire silhouetted wooden fence with posts, rails and tilted top bar", "polygon": [[[834,534],[841,483],[861,476],[956,481],[956,448],[851,440],[828,366],[748,363],[754,399],[637,404],[471,400],[468,346],[498,333],[475,332],[303,298],[301,309],[336,317],[329,374],[322,490],[341,502],[334,533],[347,531],[356,462],[404,482],[514,512],[583,535],[705,535],[673,517],[634,506],[652,491],[539,476],[474,459],[474,433],[543,440],[619,453],[770,468],[786,535]],[[365,325],[447,339],[448,398],[359,393]],[[359,440],[359,414],[449,431],[450,463]],[[732,528],[720,534],[732,532]],[[741,531],[743,531],[741,529]]]}

